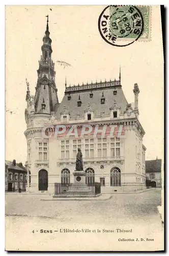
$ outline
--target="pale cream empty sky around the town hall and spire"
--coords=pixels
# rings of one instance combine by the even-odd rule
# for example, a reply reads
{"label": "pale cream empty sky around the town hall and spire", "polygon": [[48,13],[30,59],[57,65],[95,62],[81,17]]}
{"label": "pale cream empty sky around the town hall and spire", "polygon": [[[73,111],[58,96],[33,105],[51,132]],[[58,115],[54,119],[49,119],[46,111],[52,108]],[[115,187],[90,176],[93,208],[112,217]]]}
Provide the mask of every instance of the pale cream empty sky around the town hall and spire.
{"label": "pale cream empty sky around the town hall and spire", "polygon": [[[116,47],[105,42],[98,18],[105,6],[6,7],[6,160],[26,161],[26,82],[35,94],[38,60],[49,15],[52,60],[61,102],[67,83],[118,79],[128,102],[138,84],[139,121],[146,134],[146,160],[163,158],[163,49],[159,6],[152,6],[150,41]],[[60,66],[65,61],[71,67]],[[12,114],[11,114],[12,112]]]}

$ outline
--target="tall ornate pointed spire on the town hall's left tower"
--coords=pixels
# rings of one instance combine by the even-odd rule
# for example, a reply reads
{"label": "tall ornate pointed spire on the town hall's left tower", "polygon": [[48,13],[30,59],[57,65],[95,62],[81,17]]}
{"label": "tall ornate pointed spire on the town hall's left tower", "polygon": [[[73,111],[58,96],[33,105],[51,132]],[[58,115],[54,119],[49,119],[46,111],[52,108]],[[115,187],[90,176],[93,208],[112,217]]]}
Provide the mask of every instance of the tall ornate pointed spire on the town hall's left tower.
{"label": "tall ornate pointed spire on the town hall's left tower", "polygon": [[[57,87],[55,84],[54,63],[51,58],[51,38],[49,37],[49,16],[47,15],[46,31],[43,37],[41,47],[42,55],[39,61],[38,81],[35,93],[35,111],[36,113],[51,114],[54,112],[55,104],[59,103]],[[42,111],[43,110],[43,111]]]}

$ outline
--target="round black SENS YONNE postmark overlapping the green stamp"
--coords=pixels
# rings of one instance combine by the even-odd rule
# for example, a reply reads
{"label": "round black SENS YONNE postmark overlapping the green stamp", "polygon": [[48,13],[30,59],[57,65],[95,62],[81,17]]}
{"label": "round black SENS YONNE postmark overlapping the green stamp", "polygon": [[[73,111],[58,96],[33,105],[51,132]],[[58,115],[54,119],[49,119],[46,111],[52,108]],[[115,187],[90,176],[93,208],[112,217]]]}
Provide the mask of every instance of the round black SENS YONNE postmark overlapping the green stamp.
{"label": "round black SENS YONNE postmark overlapping the green stamp", "polygon": [[107,6],[99,16],[99,32],[112,46],[133,44],[143,33],[142,13],[135,6]]}

